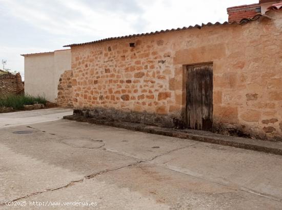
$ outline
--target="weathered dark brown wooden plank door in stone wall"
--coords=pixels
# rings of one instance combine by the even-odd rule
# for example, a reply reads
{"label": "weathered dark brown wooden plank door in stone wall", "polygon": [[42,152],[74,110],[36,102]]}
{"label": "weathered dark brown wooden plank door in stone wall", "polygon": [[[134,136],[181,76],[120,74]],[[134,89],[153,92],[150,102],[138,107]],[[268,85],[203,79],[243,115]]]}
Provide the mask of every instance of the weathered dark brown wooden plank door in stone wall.
{"label": "weathered dark brown wooden plank door in stone wall", "polygon": [[187,66],[186,125],[190,129],[212,129],[212,64]]}

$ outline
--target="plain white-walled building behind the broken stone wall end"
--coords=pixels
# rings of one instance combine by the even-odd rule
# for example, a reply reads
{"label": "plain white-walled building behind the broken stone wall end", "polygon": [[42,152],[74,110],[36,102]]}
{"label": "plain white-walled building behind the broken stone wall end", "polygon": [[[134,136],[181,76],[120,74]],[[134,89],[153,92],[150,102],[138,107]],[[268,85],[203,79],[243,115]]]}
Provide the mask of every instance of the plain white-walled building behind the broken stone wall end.
{"label": "plain white-walled building behind the broken stone wall end", "polygon": [[61,74],[71,69],[71,50],[23,54],[25,57],[25,94],[45,96],[55,103]]}

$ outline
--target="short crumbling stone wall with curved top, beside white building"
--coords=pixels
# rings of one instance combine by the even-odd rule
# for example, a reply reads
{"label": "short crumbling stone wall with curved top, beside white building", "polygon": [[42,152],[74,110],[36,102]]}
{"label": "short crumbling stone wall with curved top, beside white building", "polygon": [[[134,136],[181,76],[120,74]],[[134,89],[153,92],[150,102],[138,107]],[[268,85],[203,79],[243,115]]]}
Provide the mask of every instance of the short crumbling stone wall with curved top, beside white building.
{"label": "short crumbling stone wall with curved top, beside white building", "polygon": [[72,70],[65,71],[59,78],[57,106],[73,107]]}

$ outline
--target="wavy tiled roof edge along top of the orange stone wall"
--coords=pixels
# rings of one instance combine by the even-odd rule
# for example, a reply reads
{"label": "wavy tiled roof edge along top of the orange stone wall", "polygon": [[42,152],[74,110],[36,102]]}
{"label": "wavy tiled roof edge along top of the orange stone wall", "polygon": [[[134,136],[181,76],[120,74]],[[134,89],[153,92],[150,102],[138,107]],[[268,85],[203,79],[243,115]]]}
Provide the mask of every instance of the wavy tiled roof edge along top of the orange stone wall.
{"label": "wavy tiled roof edge along top of the orange stone wall", "polygon": [[133,37],[139,37],[139,36],[148,36],[148,35],[153,35],[153,34],[167,33],[167,32],[171,32],[171,31],[181,31],[181,30],[195,29],[195,28],[201,29],[201,28],[206,27],[206,26],[223,26],[223,25],[236,25],[236,24],[240,25],[240,24],[245,24],[246,22],[249,22],[249,21],[253,21],[253,20],[257,20],[259,18],[265,18],[265,17],[270,18],[267,15],[257,14],[257,15],[255,15],[252,18],[244,18],[239,23],[238,22],[227,22],[227,21],[225,21],[222,24],[220,22],[215,22],[215,24],[212,24],[211,22],[208,22],[207,24],[195,25],[195,26],[189,26],[189,27],[183,27],[183,28],[177,28],[177,29],[170,29],[170,30],[167,29],[167,30],[155,31],[155,32],[150,32],[150,33],[142,33],[142,34],[127,35],[127,36],[110,37],[110,38],[106,38],[106,39],[100,39],[100,40],[91,41],[91,42],[85,42],[85,43],[73,43],[73,44],[65,45],[64,47],[93,44],[93,43],[97,43],[97,42],[111,41],[111,40],[117,40],[117,39],[126,39],[126,38],[133,38]]}

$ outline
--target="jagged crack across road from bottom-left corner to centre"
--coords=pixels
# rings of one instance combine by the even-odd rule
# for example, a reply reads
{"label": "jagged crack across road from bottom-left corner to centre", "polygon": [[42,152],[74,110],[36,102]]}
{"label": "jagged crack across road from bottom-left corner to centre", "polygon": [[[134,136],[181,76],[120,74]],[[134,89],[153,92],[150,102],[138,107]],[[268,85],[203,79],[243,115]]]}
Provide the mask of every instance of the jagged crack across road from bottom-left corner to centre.
{"label": "jagged crack across road from bottom-left corner to centre", "polygon": [[90,175],[84,176],[82,179],[78,179],[78,180],[71,181],[71,182],[69,182],[68,184],[63,185],[63,186],[60,186],[60,187],[58,187],[58,188],[50,188],[50,189],[46,189],[46,190],[44,190],[44,191],[33,192],[33,193],[27,194],[27,195],[25,195],[25,196],[22,196],[22,197],[19,197],[19,198],[10,200],[10,201],[6,201],[6,202],[3,202],[3,203],[0,203],[0,206],[4,206],[4,205],[6,205],[6,203],[8,203],[8,202],[14,202],[14,201],[18,201],[18,200],[21,200],[21,199],[24,199],[24,198],[30,198],[30,197],[35,196],[35,195],[38,195],[38,194],[42,194],[42,193],[46,193],[46,192],[51,192],[51,191],[56,191],[56,190],[65,189],[65,188],[68,188],[68,187],[70,187],[70,186],[73,186],[73,185],[76,184],[76,183],[81,183],[81,182],[83,182],[84,180],[91,179],[91,178],[93,178],[93,177],[95,177],[95,176],[99,176],[99,175],[105,174],[105,173],[107,173],[107,172],[116,171],[116,170],[123,169],[123,168],[127,168],[127,167],[136,166],[136,165],[138,165],[138,164],[140,164],[140,163],[142,163],[142,162],[144,162],[144,161],[143,161],[143,160],[139,160],[139,161],[133,162],[132,164],[128,164],[128,165],[126,165],[126,166],[118,167],[118,168],[115,168],[115,169],[106,169],[106,170],[103,170],[103,171],[100,171],[100,172],[97,172],[97,173],[94,173],[94,174],[90,174]]}

